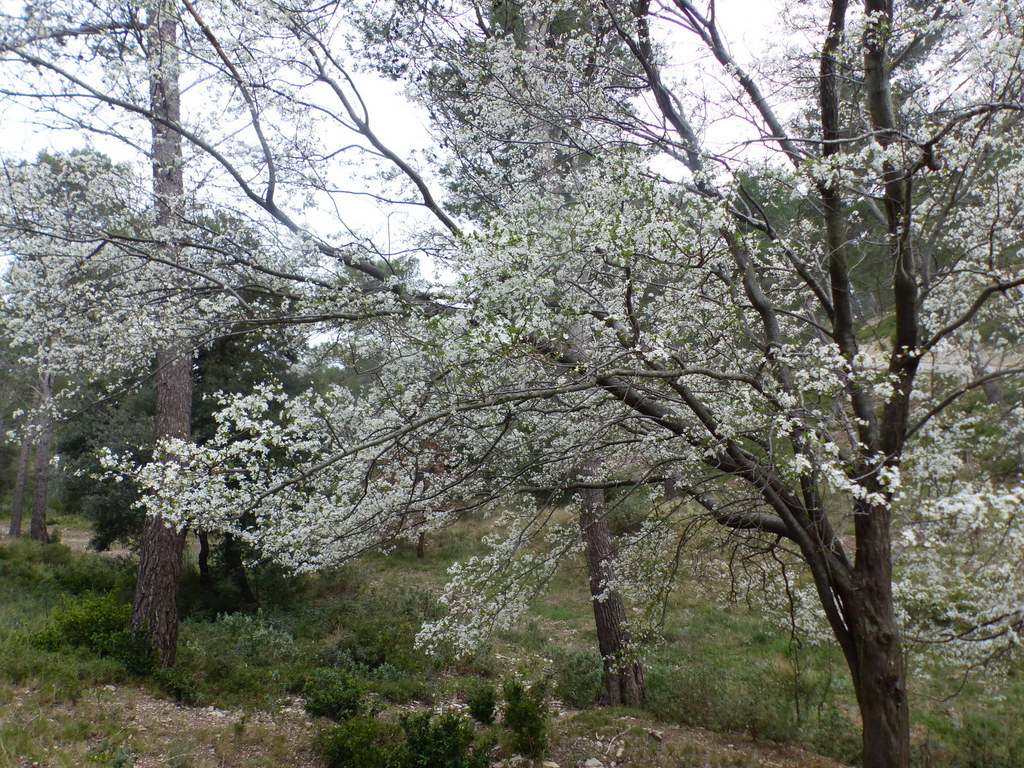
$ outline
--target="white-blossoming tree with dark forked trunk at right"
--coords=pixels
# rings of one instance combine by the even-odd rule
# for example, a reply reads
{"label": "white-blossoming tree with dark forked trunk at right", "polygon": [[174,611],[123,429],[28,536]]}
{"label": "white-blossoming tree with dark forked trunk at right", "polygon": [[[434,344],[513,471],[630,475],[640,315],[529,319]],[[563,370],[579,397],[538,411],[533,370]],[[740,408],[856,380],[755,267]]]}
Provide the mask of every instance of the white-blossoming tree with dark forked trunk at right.
{"label": "white-blossoming tree with dark forked trunk at right", "polygon": [[[438,117],[459,114],[437,130],[453,210],[480,222],[463,231],[372,130],[333,6],[244,18],[183,6],[197,71],[217,62],[210,87],[252,141],[165,124],[298,234],[298,262],[314,268],[275,272],[296,278],[304,306],[375,316],[345,338],[379,368],[361,396],[285,401],[268,386],[225,402],[219,443],[170,443],[177,462],[143,468],[151,509],[228,529],[251,513],[260,527],[239,535],[314,567],[393,536],[410,504],[442,524],[557,486],[582,457],[671,476],[722,530],[806,566],[850,669],[864,764],[906,766],[905,631],[990,654],[1022,621],[1016,470],[997,474],[975,443],[984,430],[965,426],[1013,441],[1020,421],[1021,8],[801,4],[786,47],[757,70],[730,51],[730,19],[689,0],[523,2],[514,18],[459,2],[371,9],[361,23],[390,71]],[[498,34],[520,25],[558,44]],[[434,215],[421,242],[447,285],[395,281],[281,202],[338,188],[342,145],[306,130],[319,120]],[[325,290],[326,263],[381,290]],[[445,452],[429,488],[410,459],[425,444]],[[579,546],[514,498],[511,532],[453,571],[452,613],[428,630],[470,642],[509,621]],[[546,551],[522,554],[532,535]],[[950,602],[943,588],[970,573],[974,600]]]}

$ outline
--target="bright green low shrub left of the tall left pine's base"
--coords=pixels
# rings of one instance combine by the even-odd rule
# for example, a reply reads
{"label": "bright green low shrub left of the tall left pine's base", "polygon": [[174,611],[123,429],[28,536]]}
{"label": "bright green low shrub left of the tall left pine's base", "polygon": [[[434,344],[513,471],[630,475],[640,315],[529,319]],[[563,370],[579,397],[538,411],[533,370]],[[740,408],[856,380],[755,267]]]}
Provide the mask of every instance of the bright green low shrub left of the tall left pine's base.
{"label": "bright green low shrub left of the tall left pine's base", "polygon": [[131,606],[112,595],[85,595],[66,599],[45,629],[32,637],[39,648],[86,648],[111,656],[136,675],[147,675],[156,657],[145,632],[128,626]]}

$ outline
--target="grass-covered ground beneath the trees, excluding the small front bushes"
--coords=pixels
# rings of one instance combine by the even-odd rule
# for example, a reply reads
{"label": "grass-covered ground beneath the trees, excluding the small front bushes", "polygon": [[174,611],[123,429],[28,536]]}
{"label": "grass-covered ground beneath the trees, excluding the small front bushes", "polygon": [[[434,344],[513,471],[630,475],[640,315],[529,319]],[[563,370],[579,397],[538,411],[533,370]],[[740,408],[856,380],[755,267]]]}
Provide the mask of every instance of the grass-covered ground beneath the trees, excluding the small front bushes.
{"label": "grass-covered ground beneath the trees, excluding the small front bushes", "polygon": [[[390,555],[370,555],[315,577],[255,568],[250,575],[261,596],[258,612],[218,612],[196,597],[199,585],[191,575],[185,580],[193,593],[183,601],[189,615],[182,624],[178,665],[170,674],[150,677],[132,675],[117,658],[85,648],[45,650],[31,642],[62,601],[96,593],[127,599],[130,562],[59,545],[11,542],[0,548],[0,768],[26,760],[132,765],[153,754],[168,765],[197,768],[230,764],[234,758],[228,756],[243,754],[254,757],[239,764],[289,765],[299,754],[297,742],[272,724],[256,722],[258,713],[278,711],[324,669],[355,674],[376,707],[386,711],[396,703],[464,699],[481,683],[500,687],[510,671],[530,680],[551,676],[556,690],[559,684],[562,690],[580,689],[599,664],[580,560],[566,563],[516,630],[496,637],[476,657],[430,658],[413,647],[420,623],[440,609],[435,595],[449,563],[476,551],[486,526],[469,517],[431,535],[423,559],[412,545],[401,545]],[[709,604],[685,586],[672,598],[662,634],[664,642],[646,660],[645,709],[591,710],[560,721],[552,732],[556,762],[601,757],[595,744],[613,741],[624,750],[622,766],[743,768],[759,764],[755,748],[736,752],[727,744],[751,738],[805,744],[840,761],[855,758],[854,697],[837,649],[794,644],[756,610]],[[1022,663],[1012,664],[1006,677],[969,683],[957,698],[938,700],[954,682],[942,668],[930,670],[927,681],[914,680],[915,765],[1024,765]],[[179,728],[141,732],[126,726],[126,698],[171,708],[176,717],[188,712],[160,705],[160,697],[241,714],[226,718],[222,727],[204,726],[203,749],[198,737],[181,737]],[[721,743],[705,743],[684,737],[694,732],[658,722],[727,735],[715,737]],[[669,735],[655,737],[652,729]],[[303,733],[308,748],[312,733]],[[812,759],[802,755],[785,764],[813,762],[806,761]]]}

